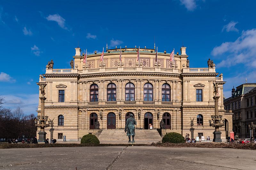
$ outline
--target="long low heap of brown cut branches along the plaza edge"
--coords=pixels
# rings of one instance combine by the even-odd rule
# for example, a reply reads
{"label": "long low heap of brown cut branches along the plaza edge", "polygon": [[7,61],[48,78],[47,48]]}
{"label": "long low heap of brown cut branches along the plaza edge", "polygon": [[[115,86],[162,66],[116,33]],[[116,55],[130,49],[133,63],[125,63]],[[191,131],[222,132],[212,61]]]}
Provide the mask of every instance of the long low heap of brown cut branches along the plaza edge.
{"label": "long low heap of brown cut branches along the plaza edge", "polygon": [[232,149],[251,149],[256,150],[256,143],[246,143],[246,144],[237,144],[237,143],[180,143],[180,144],[173,144],[173,143],[152,143],[151,146],[156,147],[170,147],[170,148],[182,148],[182,147],[193,147],[193,148],[232,148]]}

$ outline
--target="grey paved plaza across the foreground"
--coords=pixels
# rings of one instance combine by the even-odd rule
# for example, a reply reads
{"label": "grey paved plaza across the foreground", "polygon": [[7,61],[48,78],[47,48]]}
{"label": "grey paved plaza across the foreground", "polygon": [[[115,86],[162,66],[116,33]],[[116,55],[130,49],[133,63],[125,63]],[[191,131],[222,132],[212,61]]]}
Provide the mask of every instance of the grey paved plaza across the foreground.
{"label": "grey paved plaza across the foreground", "polygon": [[[122,152],[122,148],[124,151]],[[223,148],[62,147],[1,149],[0,169],[255,169],[256,151]],[[238,158],[237,158],[238,157]]]}

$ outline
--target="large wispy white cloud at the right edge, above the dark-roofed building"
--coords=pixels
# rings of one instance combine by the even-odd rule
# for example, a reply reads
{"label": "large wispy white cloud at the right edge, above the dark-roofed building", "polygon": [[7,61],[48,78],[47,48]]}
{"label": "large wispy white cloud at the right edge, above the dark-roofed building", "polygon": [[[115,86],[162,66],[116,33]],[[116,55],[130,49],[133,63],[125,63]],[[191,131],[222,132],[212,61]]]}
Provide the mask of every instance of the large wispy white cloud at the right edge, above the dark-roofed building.
{"label": "large wispy white cloud at the right edge, above the dark-roofed building", "polygon": [[224,55],[217,67],[230,67],[245,64],[256,68],[256,29],[243,31],[234,42],[223,42],[214,47],[212,55]]}

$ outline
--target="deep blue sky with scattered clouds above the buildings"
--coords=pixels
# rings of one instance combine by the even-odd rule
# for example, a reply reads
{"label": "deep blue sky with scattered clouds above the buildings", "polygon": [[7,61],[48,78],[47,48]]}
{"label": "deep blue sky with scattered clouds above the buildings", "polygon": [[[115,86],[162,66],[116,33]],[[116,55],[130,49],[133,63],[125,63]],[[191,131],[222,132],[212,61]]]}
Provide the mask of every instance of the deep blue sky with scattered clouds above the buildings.
{"label": "deep blue sky with scattered clouds above the buildings", "polygon": [[[255,82],[255,1],[8,1],[0,2],[0,95],[5,107],[36,113],[39,74],[53,59],[69,68],[75,47],[89,53],[115,46],[175,52],[187,47],[190,67],[211,58],[223,73],[225,97]],[[111,47],[112,46],[112,47]]]}

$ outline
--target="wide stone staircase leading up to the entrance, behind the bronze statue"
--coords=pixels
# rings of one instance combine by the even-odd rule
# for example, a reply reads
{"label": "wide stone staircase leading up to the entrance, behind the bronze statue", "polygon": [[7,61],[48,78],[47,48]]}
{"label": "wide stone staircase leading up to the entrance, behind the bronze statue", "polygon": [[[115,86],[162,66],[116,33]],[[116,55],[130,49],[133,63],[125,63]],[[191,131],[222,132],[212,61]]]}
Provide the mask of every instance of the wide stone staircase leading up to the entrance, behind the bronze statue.
{"label": "wide stone staircase leading up to the entrance, behind the bronze statue", "polygon": [[[128,137],[126,136],[126,133],[124,132],[124,129],[107,129],[102,130],[102,132],[99,135],[100,142],[108,142],[111,143],[111,141],[126,141],[128,142]],[[131,137],[132,138],[132,137]],[[159,135],[158,131],[155,129],[151,130],[144,130],[144,129],[135,129],[135,142],[138,141],[144,141],[144,143],[152,143],[152,142],[158,142],[161,141],[162,137]]]}

